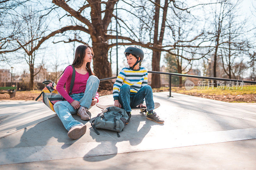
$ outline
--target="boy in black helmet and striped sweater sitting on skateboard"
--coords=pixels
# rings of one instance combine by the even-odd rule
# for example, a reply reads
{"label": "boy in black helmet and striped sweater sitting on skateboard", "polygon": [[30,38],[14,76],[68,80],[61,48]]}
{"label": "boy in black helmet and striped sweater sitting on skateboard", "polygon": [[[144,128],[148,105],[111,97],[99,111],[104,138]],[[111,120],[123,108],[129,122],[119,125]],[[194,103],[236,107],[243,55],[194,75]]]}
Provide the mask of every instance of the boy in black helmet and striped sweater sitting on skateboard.
{"label": "boy in black helmet and striped sweater sitting on skateboard", "polygon": [[148,85],[148,71],[139,66],[139,62],[143,60],[144,52],[138,47],[130,46],[125,49],[124,54],[129,67],[124,67],[116,78],[113,86],[114,106],[124,108],[129,116],[127,121],[129,123],[131,107],[138,105],[139,107],[145,107],[143,105],[145,98],[148,110],[146,113],[147,119],[164,123],[164,120],[153,112],[155,105],[152,89]]}

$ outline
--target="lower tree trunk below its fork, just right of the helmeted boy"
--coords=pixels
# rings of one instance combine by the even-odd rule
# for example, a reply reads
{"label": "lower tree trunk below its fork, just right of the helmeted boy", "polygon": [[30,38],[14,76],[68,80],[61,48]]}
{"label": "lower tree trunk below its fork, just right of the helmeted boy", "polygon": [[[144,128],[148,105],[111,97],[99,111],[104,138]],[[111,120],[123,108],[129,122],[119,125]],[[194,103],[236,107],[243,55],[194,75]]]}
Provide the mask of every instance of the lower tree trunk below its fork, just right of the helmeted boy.
{"label": "lower tree trunk below its fork, just right of the helmeted boy", "polygon": [[[152,71],[160,71],[160,56],[161,56],[161,52],[153,51]],[[160,80],[159,74],[152,74],[151,87],[152,88],[160,88],[161,87],[161,80]]]}

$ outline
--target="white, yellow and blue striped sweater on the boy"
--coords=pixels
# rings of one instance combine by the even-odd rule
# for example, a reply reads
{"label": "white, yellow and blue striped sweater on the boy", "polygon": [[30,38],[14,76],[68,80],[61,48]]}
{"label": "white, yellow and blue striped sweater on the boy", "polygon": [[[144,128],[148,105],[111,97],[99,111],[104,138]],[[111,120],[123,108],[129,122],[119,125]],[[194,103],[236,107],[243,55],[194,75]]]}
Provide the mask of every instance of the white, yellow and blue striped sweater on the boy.
{"label": "white, yellow and blue striped sweater on the boy", "polygon": [[144,67],[140,67],[138,70],[132,70],[129,66],[124,67],[113,86],[114,100],[118,100],[120,87],[125,84],[130,86],[130,92],[138,92],[142,86],[148,84],[148,71]]}

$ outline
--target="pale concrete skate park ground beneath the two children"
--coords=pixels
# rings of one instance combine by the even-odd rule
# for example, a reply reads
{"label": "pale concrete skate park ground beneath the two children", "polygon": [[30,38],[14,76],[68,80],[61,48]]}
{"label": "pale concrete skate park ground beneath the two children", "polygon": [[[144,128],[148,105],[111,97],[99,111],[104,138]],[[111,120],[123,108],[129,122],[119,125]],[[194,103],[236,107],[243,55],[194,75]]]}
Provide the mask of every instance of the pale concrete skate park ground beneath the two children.
{"label": "pale concrete skate park ground beneath the two children", "polygon": [[[153,93],[164,124],[139,110],[124,131],[89,121],[77,140],[42,102],[0,101],[0,169],[255,169],[256,105]],[[100,104],[113,104],[112,95]],[[92,120],[101,109],[92,107]]]}

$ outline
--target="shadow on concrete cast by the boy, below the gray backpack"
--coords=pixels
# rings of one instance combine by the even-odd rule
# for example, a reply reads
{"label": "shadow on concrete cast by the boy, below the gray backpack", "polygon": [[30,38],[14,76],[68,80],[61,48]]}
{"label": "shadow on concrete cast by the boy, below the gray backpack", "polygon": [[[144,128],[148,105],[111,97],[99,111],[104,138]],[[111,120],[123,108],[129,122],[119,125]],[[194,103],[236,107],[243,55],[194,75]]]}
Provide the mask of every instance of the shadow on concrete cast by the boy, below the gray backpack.
{"label": "shadow on concrete cast by the boy, below the gray backpack", "polygon": [[[143,117],[143,118],[141,118]],[[94,120],[92,118],[91,120]],[[94,129],[90,128],[90,136],[95,139],[97,142],[101,142],[97,147],[90,150],[88,153],[84,155],[84,160],[90,161],[90,162],[98,162],[103,161],[107,159],[111,159],[115,157],[118,153],[118,148],[116,147],[116,144],[118,142],[122,141],[129,141],[130,145],[135,146],[142,142],[143,138],[148,134],[149,130],[151,129],[151,126],[153,125],[164,125],[159,124],[153,121],[150,121],[146,119],[146,122],[143,124],[143,126],[138,130],[139,125],[141,124],[142,120],[146,119],[146,115],[144,115],[142,112],[140,112],[140,115],[132,115],[131,120],[129,124],[125,125],[124,130],[122,132],[119,132],[120,137],[117,137],[117,134],[115,131],[107,130],[107,129],[97,129],[100,132],[100,135],[95,135]],[[90,121],[91,122],[91,121]],[[112,138],[112,140],[108,141],[108,145],[106,147],[106,142],[102,141],[102,134],[108,134],[109,138]],[[95,152],[105,151],[109,152],[109,154],[106,157],[99,157],[98,159],[91,159],[91,155],[93,155]]]}

